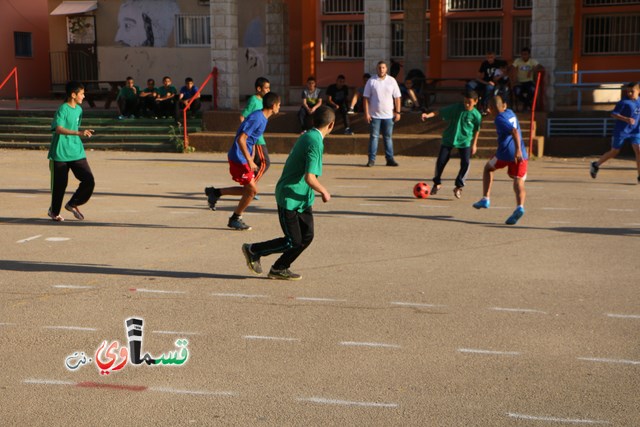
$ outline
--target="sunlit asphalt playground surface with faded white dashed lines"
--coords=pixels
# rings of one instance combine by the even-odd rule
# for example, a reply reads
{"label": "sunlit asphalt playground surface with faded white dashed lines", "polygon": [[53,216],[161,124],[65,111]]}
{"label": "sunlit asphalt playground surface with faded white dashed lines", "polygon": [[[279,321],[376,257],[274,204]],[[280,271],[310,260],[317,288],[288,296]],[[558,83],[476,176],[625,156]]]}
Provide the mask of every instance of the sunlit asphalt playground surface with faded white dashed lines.
{"label": "sunlit asphalt playground surface with faded white dashed lines", "polygon": [[[284,282],[240,249],[281,235],[272,157],[238,232],[237,199],[202,192],[232,184],[224,154],[91,151],[86,220],[54,223],[46,152],[0,151],[0,425],[640,425],[635,162],[532,160],[507,226],[504,171],[471,207],[481,160],[460,200],[455,160],[419,200],[433,158],[325,156],[332,199]],[[121,363],[131,317],[166,363]]]}

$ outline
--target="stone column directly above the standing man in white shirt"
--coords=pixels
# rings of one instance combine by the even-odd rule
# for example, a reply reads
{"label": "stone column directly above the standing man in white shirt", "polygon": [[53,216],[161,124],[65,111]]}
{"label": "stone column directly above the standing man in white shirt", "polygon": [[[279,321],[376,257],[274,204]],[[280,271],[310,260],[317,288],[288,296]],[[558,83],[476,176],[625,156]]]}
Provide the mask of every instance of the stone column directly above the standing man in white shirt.
{"label": "stone column directly above the standing man in white shirt", "polygon": [[391,59],[391,17],[389,0],[364,2],[364,72],[376,73],[378,61]]}

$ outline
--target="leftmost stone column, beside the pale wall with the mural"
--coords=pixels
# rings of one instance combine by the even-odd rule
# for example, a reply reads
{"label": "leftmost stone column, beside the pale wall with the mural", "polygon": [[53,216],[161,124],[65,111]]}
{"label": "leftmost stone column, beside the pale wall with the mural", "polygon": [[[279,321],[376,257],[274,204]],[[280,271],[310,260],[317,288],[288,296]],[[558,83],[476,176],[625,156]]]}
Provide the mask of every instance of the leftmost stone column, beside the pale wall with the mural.
{"label": "leftmost stone column, beside the pale wall with the mural", "polygon": [[238,1],[210,2],[211,68],[218,67],[218,107],[240,108],[238,80]]}

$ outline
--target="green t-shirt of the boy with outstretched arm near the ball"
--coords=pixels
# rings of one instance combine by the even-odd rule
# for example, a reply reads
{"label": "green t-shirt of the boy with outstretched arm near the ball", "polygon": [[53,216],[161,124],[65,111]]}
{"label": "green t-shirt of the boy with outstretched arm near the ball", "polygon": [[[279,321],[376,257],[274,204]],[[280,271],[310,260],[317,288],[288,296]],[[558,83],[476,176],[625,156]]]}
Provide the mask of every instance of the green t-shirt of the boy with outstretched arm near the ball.
{"label": "green t-shirt of the boy with outstretched arm near the ball", "polygon": [[480,130],[482,115],[477,109],[467,111],[463,103],[452,104],[439,110],[442,120],[449,125],[442,133],[445,147],[466,148],[473,142],[473,136]]}

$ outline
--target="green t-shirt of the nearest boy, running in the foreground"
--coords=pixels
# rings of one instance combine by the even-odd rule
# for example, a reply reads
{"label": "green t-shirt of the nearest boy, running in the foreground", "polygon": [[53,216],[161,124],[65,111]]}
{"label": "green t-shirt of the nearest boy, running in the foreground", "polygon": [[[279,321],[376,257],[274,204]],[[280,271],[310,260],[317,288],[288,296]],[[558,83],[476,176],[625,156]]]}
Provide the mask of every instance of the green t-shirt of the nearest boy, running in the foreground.
{"label": "green t-shirt of the nearest boy, running in the foreground", "polygon": [[315,192],[304,177],[307,173],[322,175],[323,151],[324,143],[319,130],[311,129],[298,138],[276,184],[278,206],[298,212],[313,206]]}

